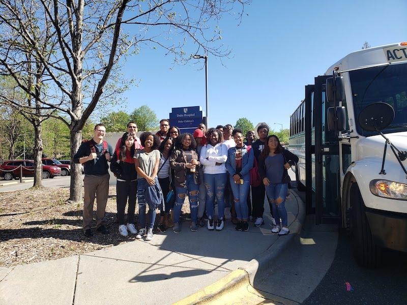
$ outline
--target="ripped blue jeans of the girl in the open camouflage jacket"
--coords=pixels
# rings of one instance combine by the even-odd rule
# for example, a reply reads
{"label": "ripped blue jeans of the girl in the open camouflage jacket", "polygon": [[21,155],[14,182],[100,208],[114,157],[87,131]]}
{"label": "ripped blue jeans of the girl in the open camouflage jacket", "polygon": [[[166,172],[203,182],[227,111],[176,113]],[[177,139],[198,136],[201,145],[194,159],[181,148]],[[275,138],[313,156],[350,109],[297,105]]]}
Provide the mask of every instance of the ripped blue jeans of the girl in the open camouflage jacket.
{"label": "ripped blue jeans of the girl in the open camouflage jacket", "polygon": [[[185,187],[176,187],[176,201],[174,205],[174,223],[178,223],[180,221],[181,216],[181,208],[185,201],[185,196],[188,191],[188,199],[189,199],[189,208],[191,209],[191,219],[193,222],[196,223],[197,215],[198,215],[198,194],[199,194],[199,185],[196,185],[194,182],[193,174],[188,174],[185,177]],[[191,195],[191,193],[196,193],[195,195]]]}

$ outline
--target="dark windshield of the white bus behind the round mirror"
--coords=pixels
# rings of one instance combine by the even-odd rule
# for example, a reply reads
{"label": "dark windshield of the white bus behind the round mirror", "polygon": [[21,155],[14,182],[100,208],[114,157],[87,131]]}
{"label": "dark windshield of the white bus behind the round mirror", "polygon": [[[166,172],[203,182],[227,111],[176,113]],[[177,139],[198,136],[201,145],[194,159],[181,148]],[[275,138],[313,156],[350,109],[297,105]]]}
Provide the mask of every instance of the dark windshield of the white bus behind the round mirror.
{"label": "dark windshield of the white bus behind the round mirror", "polygon": [[407,131],[407,64],[372,67],[349,72],[356,129],[360,135],[376,132],[363,130],[358,123],[359,113],[367,105],[384,102],[394,108],[392,124],[383,133]]}

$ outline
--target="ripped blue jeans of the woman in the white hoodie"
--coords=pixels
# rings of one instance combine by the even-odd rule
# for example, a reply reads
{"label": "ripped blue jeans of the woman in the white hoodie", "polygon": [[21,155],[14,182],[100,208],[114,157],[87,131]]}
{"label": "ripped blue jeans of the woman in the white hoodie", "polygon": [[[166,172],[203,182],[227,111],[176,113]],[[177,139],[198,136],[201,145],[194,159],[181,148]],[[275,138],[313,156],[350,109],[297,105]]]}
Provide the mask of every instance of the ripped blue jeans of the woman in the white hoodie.
{"label": "ripped blue jeans of the woman in the white hoodie", "polygon": [[207,215],[213,219],[213,209],[215,203],[215,190],[216,199],[218,200],[218,217],[223,219],[225,212],[225,186],[226,186],[227,173],[222,174],[203,174],[203,181],[205,182],[207,193]]}

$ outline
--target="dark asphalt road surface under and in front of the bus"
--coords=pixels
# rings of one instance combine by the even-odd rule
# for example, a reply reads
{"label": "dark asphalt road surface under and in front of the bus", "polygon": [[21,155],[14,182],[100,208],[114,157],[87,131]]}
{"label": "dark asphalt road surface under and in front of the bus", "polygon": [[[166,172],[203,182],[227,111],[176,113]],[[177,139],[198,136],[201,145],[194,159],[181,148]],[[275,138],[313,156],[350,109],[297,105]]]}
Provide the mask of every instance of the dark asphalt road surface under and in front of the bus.
{"label": "dark asphalt road surface under and in front of the bus", "polygon": [[[353,292],[346,291],[345,282]],[[380,268],[362,268],[350,237],[340,232],[331,267],[303,304],[407,304],[407,253],[385,250]]]}

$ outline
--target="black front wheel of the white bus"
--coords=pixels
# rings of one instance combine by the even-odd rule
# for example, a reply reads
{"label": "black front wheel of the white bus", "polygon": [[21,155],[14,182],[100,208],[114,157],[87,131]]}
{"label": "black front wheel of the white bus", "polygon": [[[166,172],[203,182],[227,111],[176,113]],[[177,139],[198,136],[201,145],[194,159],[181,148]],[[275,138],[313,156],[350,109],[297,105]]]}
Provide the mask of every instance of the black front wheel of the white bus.
{"label": "black front wheel of the white bus", "polygon": [[369,223],[366,219],[365,205],[359,187],[351,187],[352,243],[353,253],[359,265],[374,268],[380,263],[381,249],[374,245]]}

